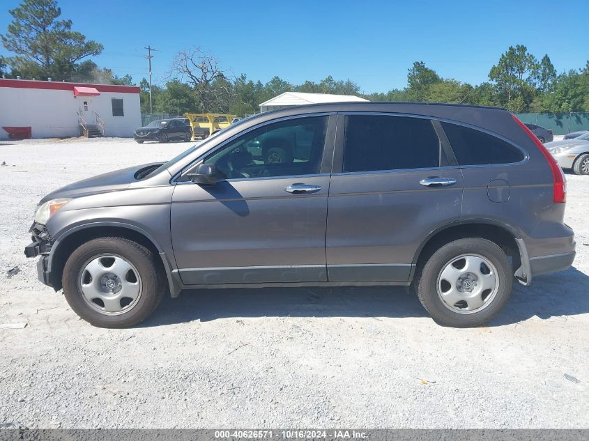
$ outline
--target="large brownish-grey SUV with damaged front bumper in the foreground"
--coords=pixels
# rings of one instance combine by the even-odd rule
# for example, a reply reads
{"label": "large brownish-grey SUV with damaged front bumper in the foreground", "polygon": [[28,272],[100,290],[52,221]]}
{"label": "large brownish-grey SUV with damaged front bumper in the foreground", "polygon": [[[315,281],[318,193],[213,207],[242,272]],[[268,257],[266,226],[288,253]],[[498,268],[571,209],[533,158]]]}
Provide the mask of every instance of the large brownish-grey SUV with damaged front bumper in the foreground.
{"label": "large brownish-grey SUV with damaged front bumper in the foreground", "polygon": [[565,192],[504,109],[300,106],[56,190],[25,254],[97,326],[135,325],[184,288],[349,285],[413,286],[438,323],[475,326],[514,278],[572,264]]}

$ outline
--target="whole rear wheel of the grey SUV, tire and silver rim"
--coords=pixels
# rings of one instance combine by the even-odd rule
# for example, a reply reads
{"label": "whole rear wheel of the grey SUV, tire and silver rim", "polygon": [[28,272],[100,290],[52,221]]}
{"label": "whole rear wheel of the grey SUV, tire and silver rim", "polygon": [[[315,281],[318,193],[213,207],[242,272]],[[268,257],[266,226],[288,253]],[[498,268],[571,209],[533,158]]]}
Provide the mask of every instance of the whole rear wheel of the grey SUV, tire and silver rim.
{"label": "whole rear wheel of the grey SUV, tire and silver rim", "polygon": [[418,297],[440,325],[487,323],[509,299],[513,272],[503,249],[490,240],[454,240],[431,255],[418,277]]}

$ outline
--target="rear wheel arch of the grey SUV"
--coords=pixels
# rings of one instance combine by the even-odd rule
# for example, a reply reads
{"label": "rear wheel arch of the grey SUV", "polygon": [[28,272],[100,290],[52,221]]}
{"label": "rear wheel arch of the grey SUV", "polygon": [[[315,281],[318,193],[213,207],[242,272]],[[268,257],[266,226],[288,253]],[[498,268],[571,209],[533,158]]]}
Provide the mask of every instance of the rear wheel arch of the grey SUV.
{"label": "rear wheel arch of the grey SUV", "polygon": [[410,279],[415,277],[415,273],[423,267],[436,249],[452,240],[472,237],[484,238],[496,243],[508,257],[512,258],[514,272],[519,274],[520,269],[523,268],[523,274],[530,277],[529,272],[525,271],[525,268],[529,267],[528,252],[523,240],[519,238],[517,229],[509,224],[489,219],[464,219],[445,224],[427,235],[413,257]]}

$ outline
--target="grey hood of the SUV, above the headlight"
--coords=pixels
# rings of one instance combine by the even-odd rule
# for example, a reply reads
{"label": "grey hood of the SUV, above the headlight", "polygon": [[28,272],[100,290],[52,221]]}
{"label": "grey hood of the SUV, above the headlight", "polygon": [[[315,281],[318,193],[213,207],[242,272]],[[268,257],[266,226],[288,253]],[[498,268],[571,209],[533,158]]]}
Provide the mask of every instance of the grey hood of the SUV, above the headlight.
{"label": "grey hood of the SUV, above the headlight", "polygon": [[[114,192],[129,187],[137,180],[135,176],[148,173],[160,167],[162,162],[152,162],[151,164],[142,164],[127,169],[110,171],[102,175],[93,176],[78,180],[75,183],[56,189],[54,192],[47,194],[39,203],[50,201],[57,198],[71,198],[77,196],[87,196],[89,194]],[[139,176],[140,178],[141,176]]]}

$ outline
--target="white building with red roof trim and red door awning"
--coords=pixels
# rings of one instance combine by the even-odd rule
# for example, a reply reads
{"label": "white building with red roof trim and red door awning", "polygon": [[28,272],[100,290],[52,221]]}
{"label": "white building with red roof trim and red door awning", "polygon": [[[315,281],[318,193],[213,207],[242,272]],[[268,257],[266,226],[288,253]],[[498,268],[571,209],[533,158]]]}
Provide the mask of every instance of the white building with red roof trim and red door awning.
{"label": "white building with red roof trim and red door awning", "polygon": [[0,139],[132,137],[141,125],[139,87],[0,79]]}

